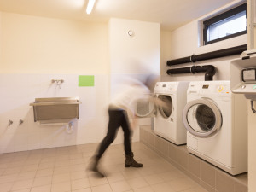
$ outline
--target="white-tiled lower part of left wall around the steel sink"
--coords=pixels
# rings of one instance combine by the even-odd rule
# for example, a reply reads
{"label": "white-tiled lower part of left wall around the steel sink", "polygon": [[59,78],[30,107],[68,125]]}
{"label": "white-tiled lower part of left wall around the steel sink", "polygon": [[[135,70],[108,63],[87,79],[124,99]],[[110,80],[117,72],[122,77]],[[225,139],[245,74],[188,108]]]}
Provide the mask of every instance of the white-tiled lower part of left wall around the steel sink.
{"label": "white-tiled lower part of left wall around the steel sink", "polygon": [[[51,79],[64,79],[61,89]],[[79,87],[78,79],[79,74],[0,74],[0,153],[100,142],[108,121],[109,77],[95,75],[93,87]],[[79,96],[82,102],[71,134],[65,125],[34,122],[29,104],[55,96]]]}

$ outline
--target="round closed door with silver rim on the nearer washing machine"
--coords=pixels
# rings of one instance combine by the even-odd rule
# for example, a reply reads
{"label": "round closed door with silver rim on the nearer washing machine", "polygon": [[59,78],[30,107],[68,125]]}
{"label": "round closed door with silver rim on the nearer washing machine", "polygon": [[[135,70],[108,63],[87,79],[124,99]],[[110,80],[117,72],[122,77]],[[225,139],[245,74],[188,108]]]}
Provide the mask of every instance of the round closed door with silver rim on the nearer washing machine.
{"label": "round closed door with silver rim on the nearer washing machine", "polygon": [[183,109],[183,124],[187,131],[197,137],[211,137],[221,128],[222,115],[211,100],[193,100]]}

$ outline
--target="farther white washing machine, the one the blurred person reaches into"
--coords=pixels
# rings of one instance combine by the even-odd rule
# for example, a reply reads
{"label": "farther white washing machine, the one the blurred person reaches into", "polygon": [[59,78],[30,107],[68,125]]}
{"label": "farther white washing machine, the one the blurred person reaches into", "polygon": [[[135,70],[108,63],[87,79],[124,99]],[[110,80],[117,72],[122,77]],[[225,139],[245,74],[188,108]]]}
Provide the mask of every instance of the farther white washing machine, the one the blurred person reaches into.
{"label": "farther white washing machine, the one the blurred person reaches into", "polygon": [[158,107],[154,116],[154,133],[177,145],[187,142],[183,125],[183,107],[187,102],[189,82],[158,82],[154,95],[170,108]]}

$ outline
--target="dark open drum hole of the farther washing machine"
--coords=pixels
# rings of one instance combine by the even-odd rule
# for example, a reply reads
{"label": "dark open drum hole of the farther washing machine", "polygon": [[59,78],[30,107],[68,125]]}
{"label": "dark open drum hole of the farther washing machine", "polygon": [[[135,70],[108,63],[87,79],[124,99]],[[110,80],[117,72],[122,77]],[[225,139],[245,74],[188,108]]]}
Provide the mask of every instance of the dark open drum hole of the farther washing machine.
{"label": "dark open drum hole of the farther washing machine", "polygon": [[159,95],[157,96],[163,105],[158,105],[158,112],[163,119],[168,119],[172,115],[172,97],[170,95]]}

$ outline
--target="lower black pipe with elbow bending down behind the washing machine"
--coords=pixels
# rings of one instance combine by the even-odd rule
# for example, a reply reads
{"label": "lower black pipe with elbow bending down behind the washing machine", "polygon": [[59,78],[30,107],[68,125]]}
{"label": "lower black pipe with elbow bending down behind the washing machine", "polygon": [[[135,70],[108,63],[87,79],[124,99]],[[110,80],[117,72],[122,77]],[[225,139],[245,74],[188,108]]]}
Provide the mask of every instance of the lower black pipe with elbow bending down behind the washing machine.
{"label": "lower black pipe with elbow bending down behind the washing machine", "polygon": [[192,67],[183,67],[183,68],[174,68],[168,69],[167,74],[180,74],[180,73],[204,73],[206,81],[212,81],[213,75],[216,73],[215,67],[212,65],[206,66],[192,66]]}

